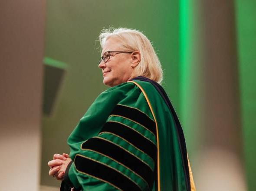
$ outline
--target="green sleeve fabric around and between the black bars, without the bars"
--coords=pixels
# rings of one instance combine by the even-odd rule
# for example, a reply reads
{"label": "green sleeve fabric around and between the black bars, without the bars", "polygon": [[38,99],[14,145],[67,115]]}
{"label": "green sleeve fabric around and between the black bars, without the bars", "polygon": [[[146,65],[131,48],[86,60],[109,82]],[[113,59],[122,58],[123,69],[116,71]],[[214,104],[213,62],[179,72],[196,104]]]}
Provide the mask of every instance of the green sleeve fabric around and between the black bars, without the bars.
{"label": "green sleeve fabric around and between the black bars, without the bars", "polygon": [[[107,157],[105,156],[95,158],[95,154],[92,154],[92,151],[80,149],[81,144],[85,140],[95,136],[101,137],[121,146],[122,148],[125,148],[126,150],[128,150],[128,152],[137,156],[141,161],[147,164],[153,172],[154,161],[147,154],[142,153],[136,147],[125,142],[124,140],[121,140],[116,136],[104,133],[99,134],[99,131],[101,130],[106,121],[118,121],[122,122],[125,125],[132,126],[141,134],[145,134],[144,136],[149,137],[148,140],[151,140],[151,142],[153,142],[154,144],[156,143],[154,135],[152,135],[151,132],[146,131],[143,127],[140,127],[140,125],[135,124],[133,121],[129,121],[124,118],[120,119],[120,117],[109,116],[109,114],[117,104],[127,105],[133,108],[139,107],[140,111],[147,114],[149,118],[153,118],[147,102],[144,96],[141,94],[141,90],[137,86],[132,83],[123,83],[118,86],[112,87],[105,92],[102,92],[102,94],[98,96],[98,98],[95,100],[95,102],[93,102],[85,115],[81,118],[79,124],[75,127],[72,134],[69,136],[68,144],[71,148],[70,157],[72,158],[72,160],[74,160],[75,155],[80,154],[91,159],[96,159],[98,162],[105,163],[108,166],[117,169],[119,172],[125,174],[134,182],[136,182],[142,190],[146,190],[147,183],[138,175],[135,175],[135,173],[129,171],[127,168],[121,167],[120,164],[111,159],[107,159]],[[92,178],[89,175],[78,172],[75,169],[74,165],[72,165],[72,168],[70,168],[69,171],[72,171],[69,172],[69,178],[72,183],[74,183],[75,187],[82,186],[84,190],[116,190],[116,188],[113,188],[107,183],[102,183],[102,181]],[[77,181],[79,182],[79,185],[76,184]]]}

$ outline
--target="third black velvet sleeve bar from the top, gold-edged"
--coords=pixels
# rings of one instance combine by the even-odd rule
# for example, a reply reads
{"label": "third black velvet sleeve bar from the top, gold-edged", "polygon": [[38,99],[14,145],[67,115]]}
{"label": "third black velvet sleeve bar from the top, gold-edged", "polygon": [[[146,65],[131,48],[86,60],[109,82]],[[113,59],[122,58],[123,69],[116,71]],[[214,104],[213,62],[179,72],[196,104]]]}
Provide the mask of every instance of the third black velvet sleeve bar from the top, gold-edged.
{"label": "third black velvet sleeve bar from the top, gold-edged", "polygon": [[98,153],[109,156],[110,158],[115,159],[124,166],[127,166],[132,171],[136,172],[148,182],[148,185],[152,184],[153,172],[150,167],[119,146],[110,143],[107,140],[94,137],[83,143],[82,149],[95,150]]}

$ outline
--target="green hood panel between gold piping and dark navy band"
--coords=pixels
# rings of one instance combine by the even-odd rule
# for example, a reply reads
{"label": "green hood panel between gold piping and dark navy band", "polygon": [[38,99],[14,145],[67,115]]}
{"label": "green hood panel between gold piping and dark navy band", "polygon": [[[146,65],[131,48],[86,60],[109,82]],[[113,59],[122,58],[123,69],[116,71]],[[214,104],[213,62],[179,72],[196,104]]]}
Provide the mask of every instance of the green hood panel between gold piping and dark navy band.
{"label": "green hood panel between gold piping and dark navy band", "polygon": [[[151,83],[135,80],[145,91],[158,123],[161,190],[186,191],[185,174],[181,159],[174,118],[163,98]],[[158,95],[158,96],[157,96]]]}

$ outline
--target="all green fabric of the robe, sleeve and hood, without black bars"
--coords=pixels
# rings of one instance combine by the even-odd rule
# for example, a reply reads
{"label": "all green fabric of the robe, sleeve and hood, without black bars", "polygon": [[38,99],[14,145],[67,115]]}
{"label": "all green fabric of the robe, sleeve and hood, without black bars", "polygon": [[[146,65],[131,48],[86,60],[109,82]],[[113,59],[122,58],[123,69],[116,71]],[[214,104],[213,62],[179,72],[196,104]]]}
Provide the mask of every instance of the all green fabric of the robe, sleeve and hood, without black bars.
{"label": "all green fabric of the robe, sleeve and hood, without black bars", "polygon": [[[146,92],[158,124],[161,190],[185,191],[186,185],[184,181],[181,152],[171,113],[164,100],[151,83],[138,80],[135,80],[135,82],[138,83]],[[148,102],[138,86],[134,83],[127,82],[112,87],[98,96],[85,115],[80,119],[74,131],[70,134],[68,138],[70,157],[73,161],[76,155],[95,159],[98,162],[111,166],[118,172],[121,172],[131,178],[131,180],[136,182],[141,190],[147,190],[148,187],[145,181],[129,169],[125,168],[125,166],[122,166],[118,162],[102,156],[99,153],[89,150],[81,150],[81,145],[85,140],[92,137],[104,138],[136,155],[136,157],[141,159],[141,161],[150,166],[152,170],[155,169],[156,166],[154,165],[154,161],[151,157],[138,150],[135,146],[132,146],[111,134],[104,132],[99,134],[106,121],[118,121],[134,128],[135,131],[143,134],[144,137],[152,143],[157,144],[154,134],[147,131],[144,127],[141,127],[141,125],[135,124],[133,121],[125,118],[109,116],[117,104],[138,108],[138,110],[148,115],[151,120],[154,120]],[[72,164],[69,169],[69,178],[76,188],[81,186],[83,190],[117,190],[115,187],[105,183],[104,181],[79,172],[75,168],[74,164]]]}

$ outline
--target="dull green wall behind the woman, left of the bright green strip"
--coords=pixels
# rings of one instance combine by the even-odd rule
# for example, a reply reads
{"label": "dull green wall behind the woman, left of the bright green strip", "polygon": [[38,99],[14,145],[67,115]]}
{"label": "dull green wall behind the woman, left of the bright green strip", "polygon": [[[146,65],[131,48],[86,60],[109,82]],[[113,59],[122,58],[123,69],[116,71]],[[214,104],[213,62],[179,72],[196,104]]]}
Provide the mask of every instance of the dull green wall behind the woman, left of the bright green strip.
{"label": "dull green wall behind the woman, left of the bright green strip", "polygon": [[98,69],[101,29],[139,29],[152,42],[164,68],[163,86],[179,108],[179,10],[177,0],[48,0],[45,57],[69,65],[51,118],[42,120],[41,184],[59,186],[48,175],[54,153],[69,153],[66,139],[89,105],[105,90]]}

